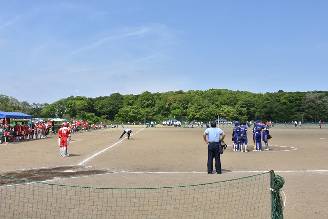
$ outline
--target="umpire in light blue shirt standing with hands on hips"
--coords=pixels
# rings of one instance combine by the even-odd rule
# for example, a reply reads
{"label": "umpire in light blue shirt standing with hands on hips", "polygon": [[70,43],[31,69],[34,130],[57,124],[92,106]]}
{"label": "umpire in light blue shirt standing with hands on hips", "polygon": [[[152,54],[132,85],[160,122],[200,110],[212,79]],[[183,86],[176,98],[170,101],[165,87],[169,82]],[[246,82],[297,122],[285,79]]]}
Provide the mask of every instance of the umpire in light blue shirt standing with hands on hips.
{"label": "umpire in light blue shirt standing with hands on hips", "polygon": [[[209,135],[208,140],[206,140],[206,135]],[[221,161],[220,161],[220,153],[219,153],[219,144],[220,144],[220,135],[222,135],[221,140],[224,139],[224,132],[216,128],[216,122],[211,122],[211,128],[207,128],[204,133],[204,141],[208,144],[209,149],[209,157],[207,161],[207,172],[208,174],[212,174],[213,171],[213,158],[215,158],[215,170],[216,173],[221,174]]]}

